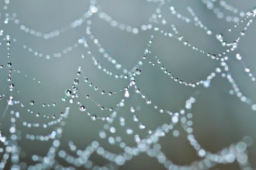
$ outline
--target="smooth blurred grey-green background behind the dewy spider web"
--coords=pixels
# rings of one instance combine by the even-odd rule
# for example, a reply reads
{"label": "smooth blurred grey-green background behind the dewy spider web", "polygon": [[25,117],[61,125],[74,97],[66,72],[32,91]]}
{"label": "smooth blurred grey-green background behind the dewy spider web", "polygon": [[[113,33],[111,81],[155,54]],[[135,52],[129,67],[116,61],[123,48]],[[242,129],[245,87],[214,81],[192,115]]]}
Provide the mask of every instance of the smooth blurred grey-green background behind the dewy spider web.
{"label": "smooth blurred grey-green background behind the dewy spider web", "polygon": [[[240,17],[239,13],[234,14],[226,10],[218,0],[213,1],[213,3],[216,8],[223,12],[223,18],[218,18],[219,16],[215,14],[216,11],[209,10],[201,0],[171,0],[171,2],[167,1],[161,7],[161,15],[167,21],[167,24],[153,24],[171,33],[173,33],[171,25],[174,24],[178,31],[177,37],[183,36],[184,40],[187,40],[199,50],[217,54],[224,51],[226,47],[219,43],[216,34],[221,33],[227,42],[233,42],[241,36],[240,31],[245,23],[244,25],[241,24],[240,29],[237,28],[237,30],[229,33],[228,29],[234,28],[236,23],[227,21],[226,16],[234,16],[239,19],[243,17]],[[244,12],[251,11],[256,7],[254,0],[233,0],[228,1],[228,3]],[[102,12],[118,22],[139,28],[141,25],[149,23],[149,18],[156,13],[159,3],[146,0],[97,0],[97,4],[100,5]],[[69,26],[71,22],[81,17],[89,9],[89,0],[11,0],[8,9],[3,9],[4,6],[5,1],[0,0],[0,30],[4,31],[4,35],[10,34],[12,40],[15,38],[16,41],[11,41],[9,58],[7,57],[8,50],[5,41],[2,41],[0,46],[0,64],[3,65],[3,68],[0,68],[0,95],[2,98],[0,100],[0,113],[4,113],[7,105],[6,101],[10,95],[14,97],[14,100],[20,101],[24,107],[16,104],[8,108],[6,115],[1,119],[1,133],[10,136],[10,111],[20,112],[20,122],[17,122],[16,128],[21,132],[21,139],[18,143],[23,151],[20,159],[21,162],[25,162],[21,166],[23,168],[35,164],[31,159],[32,155],[44,156],[52,145],[52,140],[29,140],[26,139],[25,135],[46,135],[59,127],[59,124],[48,128],[27,128],[22,125],[22,122],[45,123],[51,121],[53,120],[52,115],[59,118],[59,113],[65,111],[65,107],[68,105],[70,106],[69,116],[62,127],[63,133],[59,150],[65,150],[72,155],[73,153],[69,152],[69,141],[73,141],[78,149],[84,150],[92,141],[97,140],[108,151],[113,153],[123,152],[118,146],[111,145],[107,139],[99,137],[98,132],[103,129],[106,122],[93,121],[87,116],[87,111],[98,117],[109,115],[110,111],[100,110],[98,105],[86,99],[85,95],[89,94],[93,100],[101,105],[116,108],[117,103],[124,98],[124,87],[129,85],[129,79],[116,79],[114,76],[107,75],[99,70],[94,65],[91,56],[87,54],[88,49],[80,45],[73,48],[72,51],[62,54],[61,57],[52,56],[53,53],[60,52],[74,43],[78,43],[78,39],[82,36],[85,37],[98,62],[104,68],[113,72],[114,75],[123,74],[122,68],[130,70],[136,66],[138,61],[142,60],[142,55],[152,34],[154,35],[151,46],[152,56],[158,56],[161,64],[181,80],[197,82],[206,79],[217,67],[220,67],[219,61],[213,60],[199,51],[192,50],[192,48],[184,47],[183,40],[180,42],[153,30],[139,31],[138,34],[128,33],[111,26],[109,22],[99,18],[97,14],[93,15],[89,18],[92,34],[95,35],[105,51],[122,65],[122,68],[117,70],[98,51],[93,40],[86,35],[86,24],[68,29],[59,36],[50,39],[37,37],[20,29],[20,25],[24,24],[34,30],[48,33],[63,26]],[[179,13],[191,18],[191,21],[186,23],[184,20],[177,18],[176,15],[171,13],[170,6],[174,6]],[[199,20],[212,30],[212,34],[206,34],[205,30],[195,26],[194,19],[187,10],[188,6],[194,10]],[[16,24],[10,19],[8,24],[4,24],[6,13],[9,14],[9,17],[16,15],[20,23]],[[256,82],[251,81],[248,73],[244,71],[243,66],[236,59],[236,53],[242,56],[251,73],[256,74],[255,30],[256,24],[253,22],[239,41],[237,49],[227,54],[229,57],[227,61],[229,72],[241,92],[252,101],[256,101]],[[24,49],[24,45],[27,47],[26,49]],[[41,52],[43,56],[34,55],[33,52],[28,50],[29,47]],[[46,59],[47,54],[51,55],[50,59]],[[84,58],[82,55],[84,55]],[[154,58],[152,60],[156,62]],[[13,70],[20,70],[20,73],[12,73],[12,83],[15,85],[13,91],[10,91],[8,87],[9,68],[7,62],[12,63],[11,68]],[[236,95],[230,94],[230,90],[233,88],[226,78],[217,74],[208,88],[203,85],[193,88],[175,82],[161,69],[148,64],[148,60],[143,60],[143,62],[144,64],[140,67],[141,74],[136,76],[136,85],[153,104],[146,104],[139,94],[133,89],[130,90],[130,97],[125,99],[125,105],[120,108],[118,118],[113,122],[117,132],[114,134],[108,132],[109,135],[120,136],[128,146],[137,146],[134,141],[136,134],[144,138],[148,135],[149,130],[155,130],[158,126],[171,122],[171,117],[160,114],[154,109],[154,105],[175,113],[184,108],[186,100],[197,92],[198,95],[195,96],[197,102],[193,105],[191,113],[193,114],[193,134],[200,145],[209,152],[217,153],[222,148],[240,141],[244,136],[251,136],[254,142],[248,148],[248,158],[252,167],[256,168],[256,112],[251,109],[250,105],[241,102]],[[94,88],[83,82],[81,76],[77,75],[79,67],[82,68],[85,77],[93,83],[93,86],[104,89],[106,93],[108,91],[117,91],[118,93],[112,96],[101,95],[100,90],[95,91]],[[85,112],[79,110],[78,104],[61,100],[62,97],[65,97],[65,90],[72,88],[75,78],[80,80],[78,85],[79,101],[85,105]],[[6,88],[5,85],[7,85]],[[31,105],[30,101],[35,103]],[[56,103],[56,106],[52,106],[53,102]],[[42,106],[43,103],[46,104],[45,107]],[[50,104],[50,106],[48,107],[47,104]],[[135,113],[131,113],[131,107],[136,108]],[[30,113],[31,111],[33,111],[33,114]],[[35,113],[40,113],[40,116],[35,116]],[[47,118],[47,115],[50,118]],[[139,120],[145,125],[145,129],[138,128],[138,123],[132,120],[133,115],[138,116]],[[119,125],[119,117],[125,118],[125,126]],[[126,134],[126,128],[128,127],[133,129],[134,133],[132,135]],[[178,130],[178,136],[173,136],[170,132],[165,137],[160,138],[158,142],[165,156],[177,165],[190,165],[194,161],[202,159],[197,156],[195,149],[189,144],[187,134],[180,123],[174,129]],[[71,166],[58,156],[56,156],[56,159],[63,166]],[[98,166],[109,163],[97,154],[93,154],[90,159]],[[5,169],[10,169],[10,165],[11,161],[8,160]],[[149,157],[147,153],[141,153],[118,167],[118,169],[163,170],[166,168],[158,163],[156,158]],[[211,168],[211,170],[239,169],[240,167],[236,161],[231,164],[218,164]]]}

